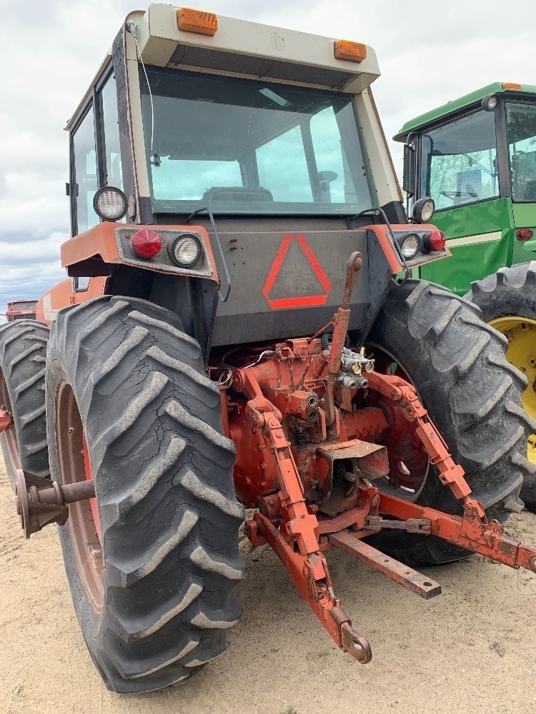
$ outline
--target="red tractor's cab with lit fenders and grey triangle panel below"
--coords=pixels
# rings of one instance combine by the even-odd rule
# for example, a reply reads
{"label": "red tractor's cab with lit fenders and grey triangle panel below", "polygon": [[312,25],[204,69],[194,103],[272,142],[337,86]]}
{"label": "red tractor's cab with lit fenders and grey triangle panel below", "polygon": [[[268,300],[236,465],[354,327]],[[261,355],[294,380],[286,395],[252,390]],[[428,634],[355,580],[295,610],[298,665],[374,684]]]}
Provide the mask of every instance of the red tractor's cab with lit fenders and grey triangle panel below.
{"label": "red tractor's cab with lit fenders and grey triangle panel below", "polygon": [[407,226],[372,47],[245,27],[164,4],[129,14],[67,125],[62,263],[174,311],[208,359],[313,334],[339,305],[350,253],[379,251],[352,296],[362,343],[389,276],[447,256],[445,241]]}

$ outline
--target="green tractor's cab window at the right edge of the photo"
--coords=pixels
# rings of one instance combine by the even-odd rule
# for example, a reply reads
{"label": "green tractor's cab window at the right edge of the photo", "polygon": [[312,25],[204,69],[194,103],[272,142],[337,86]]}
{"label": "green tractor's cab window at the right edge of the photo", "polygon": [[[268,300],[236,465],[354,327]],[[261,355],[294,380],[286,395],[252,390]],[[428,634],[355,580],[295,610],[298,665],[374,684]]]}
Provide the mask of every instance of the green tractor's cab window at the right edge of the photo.
{"label": "green tractor's cab window at the right edge of the photo", "polygon": [[512,200],[536,201],[536,106],[506,105]]}

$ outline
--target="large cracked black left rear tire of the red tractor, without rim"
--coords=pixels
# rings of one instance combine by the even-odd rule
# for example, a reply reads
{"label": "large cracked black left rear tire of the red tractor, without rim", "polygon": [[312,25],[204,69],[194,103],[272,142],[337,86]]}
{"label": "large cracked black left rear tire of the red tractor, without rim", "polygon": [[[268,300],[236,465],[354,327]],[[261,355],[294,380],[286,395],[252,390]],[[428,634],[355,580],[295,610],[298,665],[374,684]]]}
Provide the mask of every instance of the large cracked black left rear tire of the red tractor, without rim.
{"label": "large cracked black left rear tire of the red tractor, without rim", "polygon": [[104,296],[59,311],[46,395],[51,473],[59,480],[56,389],[81,415],[99,505],[104,605],[84,591],[69,521],[61,547],[74,608],[106,687],[179,683],[223,652],[244,577],[234,444],[219,390],[179,318],[137,298]]}

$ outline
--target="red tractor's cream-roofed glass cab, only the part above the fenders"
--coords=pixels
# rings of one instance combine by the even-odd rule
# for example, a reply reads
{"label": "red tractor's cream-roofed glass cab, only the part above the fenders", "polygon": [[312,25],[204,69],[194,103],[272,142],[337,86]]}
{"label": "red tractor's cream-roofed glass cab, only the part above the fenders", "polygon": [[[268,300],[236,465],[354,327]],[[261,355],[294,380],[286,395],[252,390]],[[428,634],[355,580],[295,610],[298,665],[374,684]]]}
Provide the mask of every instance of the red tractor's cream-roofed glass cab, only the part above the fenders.
{"label": "red tractor's cream-roofed glass cab, only the part above the fenders", "polygon": [[131,197],[138,223],[205,207],[352,216],[399,200],[388,157],[365,149],[374,50],[248,25],[163,4],[129,15],[66,127],[73,235],[101,220],[103,186]]}

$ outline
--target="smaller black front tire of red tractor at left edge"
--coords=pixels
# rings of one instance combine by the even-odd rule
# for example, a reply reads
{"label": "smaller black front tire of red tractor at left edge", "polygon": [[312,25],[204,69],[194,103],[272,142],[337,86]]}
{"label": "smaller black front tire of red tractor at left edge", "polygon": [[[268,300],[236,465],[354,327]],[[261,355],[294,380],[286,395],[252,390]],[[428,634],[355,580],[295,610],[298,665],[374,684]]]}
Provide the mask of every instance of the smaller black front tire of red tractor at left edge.
{"label": "smaller black front tire of red tractor at left edge", "polygon": [[35,320],[16,320],[0,328],[0,372],[11,402],[19,460],[11,456],[6,433],[0,433],[0,444],[13,490],[16,468],[50,476],[44,395],[48,341],[49,328]]}

